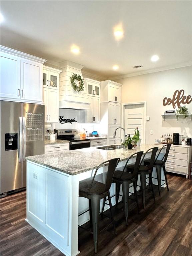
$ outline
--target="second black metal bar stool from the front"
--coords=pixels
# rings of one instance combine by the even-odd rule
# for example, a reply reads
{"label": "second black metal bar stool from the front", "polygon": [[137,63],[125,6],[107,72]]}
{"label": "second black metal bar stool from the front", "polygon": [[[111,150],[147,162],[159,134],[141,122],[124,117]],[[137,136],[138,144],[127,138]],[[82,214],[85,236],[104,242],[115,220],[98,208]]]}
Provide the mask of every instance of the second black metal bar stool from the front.
{"label": "second black metal bar stool from the front", "polygon": [[[135,167],[133,170],[133,173],[127,173],[125,172],[125,169],[127,167],[127,163],[129,162],[129,160],[136,155],[136,162],[135,162]],[[115,173],[114,173],[114,177],[113,177],[113,183],[115,183],[116,186],[116,207],[119,201],[119,193],[120,193],[120,187],[122,185],[122,191],[123,191],[123,203],[124,203],[124,208],[125,208],[125,220],[126,220],[126,226],[128,226],[128,209],[129,209],[129,185],[131,183],[133,183],[133,188],[134,188],[134,194],[135,194],[135,199],[137,202],[137,207],[138,207],[138,211],[139,211],[139,204],[138,204],[138,199],[137,199],[137,190],[136,190],[136,177],[137,177],[137,172],[139,169],[139,165],[140,165],[140,160],[141,160],[141,156],[143,155],[143,151],[139,151],[137,153],[132,154],[126,161],[126,164],[123,168],[123,170],[120,169],[116,169]],[[103,201],[103,209],[102,209],[102,213],[104,211],[104,207],[106,204],[106,198],[104,198]]]}

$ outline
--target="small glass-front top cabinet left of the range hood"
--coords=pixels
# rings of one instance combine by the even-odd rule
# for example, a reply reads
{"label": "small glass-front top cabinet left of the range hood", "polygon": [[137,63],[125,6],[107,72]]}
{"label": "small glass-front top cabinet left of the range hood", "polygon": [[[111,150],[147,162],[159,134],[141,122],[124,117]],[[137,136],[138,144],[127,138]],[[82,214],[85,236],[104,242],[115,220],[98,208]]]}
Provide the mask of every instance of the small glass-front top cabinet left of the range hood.
{"label": "small glass-front top cabinet left of the range hood", "polygon": [[59,89],[59,73],[61,70],[43,66],[43,87]]}

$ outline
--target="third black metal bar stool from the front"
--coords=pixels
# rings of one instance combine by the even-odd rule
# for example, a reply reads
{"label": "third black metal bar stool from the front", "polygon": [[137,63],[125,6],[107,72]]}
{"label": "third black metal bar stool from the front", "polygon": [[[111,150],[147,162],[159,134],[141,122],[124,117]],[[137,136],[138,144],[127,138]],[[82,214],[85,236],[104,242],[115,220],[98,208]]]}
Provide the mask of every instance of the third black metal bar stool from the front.
{"label": "third black metal bar stool from the front", "polygon": [[[154,194],[154,190],[153,190],[153,182],[152,182],[152,174],[151,171],[153,169],[153,164],[155,162],[155,156],[158,150],[158,147],[154,147],[154,148],[150,148],[148,149],[142,160],[141,163],[143,162],[144,157],[146,156],[146,154],[151,151],[151,158],[150,158],[150,162],[148,166],[144,166],[144,165],[140,165],[139,166],[139,170],[138,170],[138,175],[140,176],[140,181],[141,181],[141,193],[142,193],[142,201],[143,201],[143,209],[145,209],[145,190],[146,190],[146,179],[147,179],[147,174],[149,175],[149,184],[151,185],[151,190],[153,193],[153,200],[155,201],[155,194]],[[133,169],[135,168],[135,164],[133,165],[128,165],[127,166],[127,172],[132,172]],[[138,180],[138,175],[137,175],[137,180]],[[137,185],[138,186],[138,185]]]}

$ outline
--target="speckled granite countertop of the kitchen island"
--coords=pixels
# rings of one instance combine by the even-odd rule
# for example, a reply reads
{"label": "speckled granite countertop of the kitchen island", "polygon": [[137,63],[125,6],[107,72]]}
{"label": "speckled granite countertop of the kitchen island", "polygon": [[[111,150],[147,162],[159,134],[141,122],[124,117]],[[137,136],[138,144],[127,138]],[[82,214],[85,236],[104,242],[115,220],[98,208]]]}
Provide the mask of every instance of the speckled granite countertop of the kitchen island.
{"label": "speckled granite countertop of the kitchen island", "polygon": [[[76,175],[97,168],[99,164],[112,158],[119,157],[120,161],[126,160],[133,153],[153,148],[154,144],[144,144],[135,149],[102,150],[95,147],[66,152],[51,152],[51,154],[26,157],[27,160],[50,167],[54,170],[70,175]],[[161,145],[158,145],[162,148]]]}

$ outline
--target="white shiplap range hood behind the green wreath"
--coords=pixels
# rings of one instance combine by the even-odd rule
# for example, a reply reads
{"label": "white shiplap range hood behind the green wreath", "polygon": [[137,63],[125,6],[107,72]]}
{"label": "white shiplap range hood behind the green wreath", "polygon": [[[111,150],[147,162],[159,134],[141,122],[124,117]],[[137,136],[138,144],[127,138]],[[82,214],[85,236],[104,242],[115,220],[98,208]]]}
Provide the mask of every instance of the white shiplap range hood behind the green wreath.
{"label": "white shiplap range hood behind the green wreath", "polygon": [[82,65],[71,61],[63,61],[60,63],[62,72],[59,75],[59,108],[89,110],[90,103],[87,96],[87,89],[76,92],[70,83],[71,75],[78,74],[82,76]]}

